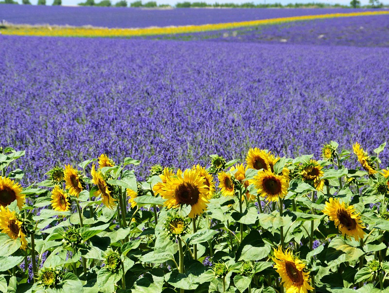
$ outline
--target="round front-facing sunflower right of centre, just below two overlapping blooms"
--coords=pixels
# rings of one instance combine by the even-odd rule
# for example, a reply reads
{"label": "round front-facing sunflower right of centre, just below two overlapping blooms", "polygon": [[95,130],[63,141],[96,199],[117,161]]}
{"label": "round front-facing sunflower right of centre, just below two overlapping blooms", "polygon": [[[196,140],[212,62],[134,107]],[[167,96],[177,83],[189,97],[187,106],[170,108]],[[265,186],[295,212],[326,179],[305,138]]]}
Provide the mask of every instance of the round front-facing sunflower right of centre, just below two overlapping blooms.
{"label": "round front-facing sunflower right of centre, just below two overlapping blooms", "polygon": [[288,192],[289,180],[282,175],[274,174],[270,171],[258,171],[258,174],[250,180],[257,188],[257,193],[266,197],[267,201],[277,201],[284,198]]}

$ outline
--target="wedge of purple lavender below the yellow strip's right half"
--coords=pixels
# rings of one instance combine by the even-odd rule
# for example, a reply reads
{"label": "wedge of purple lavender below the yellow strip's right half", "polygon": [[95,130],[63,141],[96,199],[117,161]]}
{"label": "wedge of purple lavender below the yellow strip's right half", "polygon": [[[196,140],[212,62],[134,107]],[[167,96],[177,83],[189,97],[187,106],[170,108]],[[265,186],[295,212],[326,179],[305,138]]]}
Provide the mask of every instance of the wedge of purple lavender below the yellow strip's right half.
{"label": "wedge of purple lavender below the yellow strip's right half", "polygon": [[389,47],[389,17],[356,16],[328,18],[216,32],[150,36],[148,38],[286,45]]}

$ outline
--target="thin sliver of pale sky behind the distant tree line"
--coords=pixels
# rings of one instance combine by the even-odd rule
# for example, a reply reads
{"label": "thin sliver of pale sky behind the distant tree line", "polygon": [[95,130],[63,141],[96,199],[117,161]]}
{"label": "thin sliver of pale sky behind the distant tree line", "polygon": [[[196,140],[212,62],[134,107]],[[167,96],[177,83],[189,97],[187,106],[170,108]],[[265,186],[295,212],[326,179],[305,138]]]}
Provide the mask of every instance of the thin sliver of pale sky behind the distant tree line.
{"label": "thin sliver of pale sky behind the distant tree line", "polygon": [[[32,4],[36,4],[37,0],[30,0]],[[99,0],[95,0],[99,1]],[[116,3],[119,0],[111,0],[112,3]],[[128,3],[131,3],[135,0],[127,0]],[[142,0],[142,2],[147,2],[150,0]],[[170,4],[170,5],[175,5],[177,2],[184,2],[184,1],[189,1],[189,2],[207,2],[207,3],[214,3],[214,2],[219,2],[219,3],[245,3],[245,2],[254,2],[255,4],[257,3],[275,3],[275,2],[280,2],[282,4],[288,4],[288,3],[307,3],[307,2],[320,2],[320,3],[328,3],[328,4],[344,4],[344,5],[349,5],[351,0],[153,0],[156,1],[157,4]],[[21,3],[21,0],[18,0],[19,3]],[[53,0],[46,0],[46,3],[48,5],[51,5]],[[62,0],[62,5],[77,5],[79,2],[85,2],[85,0]],[[369,0],[360,0],[362,5],[367,5],[369,4]],[[381,0],[380,2],[384,4],[389,4],[389,0]]]}

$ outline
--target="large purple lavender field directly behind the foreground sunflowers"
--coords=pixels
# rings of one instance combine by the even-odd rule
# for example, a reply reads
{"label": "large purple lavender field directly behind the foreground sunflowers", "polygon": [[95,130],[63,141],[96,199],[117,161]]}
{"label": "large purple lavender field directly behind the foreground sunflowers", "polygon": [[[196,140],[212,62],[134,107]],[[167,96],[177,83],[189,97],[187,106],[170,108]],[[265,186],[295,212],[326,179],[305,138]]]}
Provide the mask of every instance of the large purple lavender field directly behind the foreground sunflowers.
{"label": "large purple lavender field directly behind the foreground sunflowers", "polygon": [[[0,36],[2,146],[24,180],[107,153],[188,166],[388,137],[389,48]],[[380,157],[388,164],[388,150]]]}

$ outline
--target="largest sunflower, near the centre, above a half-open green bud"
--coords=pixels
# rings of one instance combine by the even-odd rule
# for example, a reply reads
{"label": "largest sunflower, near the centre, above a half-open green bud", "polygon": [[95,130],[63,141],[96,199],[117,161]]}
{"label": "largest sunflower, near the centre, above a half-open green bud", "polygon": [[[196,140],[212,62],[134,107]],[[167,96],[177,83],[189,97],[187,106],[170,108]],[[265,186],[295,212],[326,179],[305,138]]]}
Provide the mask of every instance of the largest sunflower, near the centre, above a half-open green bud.
{"label": "largest sunflower, near the centre, above a half-open green bud", "polygon": [[170,177],[162,187],[161,196],[166,199],[164,206],[168,209],[187,204],[192,207],[190,218],[207,209],[209,189],[202,177],[195,170],[177,170],[177,177]]}

